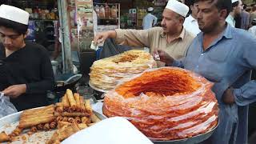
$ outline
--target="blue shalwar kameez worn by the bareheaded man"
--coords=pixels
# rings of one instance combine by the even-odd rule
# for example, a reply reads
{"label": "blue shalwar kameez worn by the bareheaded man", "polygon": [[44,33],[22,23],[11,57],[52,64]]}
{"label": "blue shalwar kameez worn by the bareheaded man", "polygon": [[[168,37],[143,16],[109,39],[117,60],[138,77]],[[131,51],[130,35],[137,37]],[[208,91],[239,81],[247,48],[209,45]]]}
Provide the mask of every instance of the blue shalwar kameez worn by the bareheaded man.
{"label": "blue shalwar kameez worn by the bareheaded man", "polygon": [[[214,82],[212,90],[218,99],[219,124],[208,141],[246,143],[248,104],[256,101],[256,82],[250,81],[250,72],[256,69],[256,39],[245,30],[227,25],[205,51],[202,41],[201,32],[194,38],[186,57],[174,61],[173,66],[193,70]],[[234,88],[233,105],[222,102],[222,94],[229,87]]]}

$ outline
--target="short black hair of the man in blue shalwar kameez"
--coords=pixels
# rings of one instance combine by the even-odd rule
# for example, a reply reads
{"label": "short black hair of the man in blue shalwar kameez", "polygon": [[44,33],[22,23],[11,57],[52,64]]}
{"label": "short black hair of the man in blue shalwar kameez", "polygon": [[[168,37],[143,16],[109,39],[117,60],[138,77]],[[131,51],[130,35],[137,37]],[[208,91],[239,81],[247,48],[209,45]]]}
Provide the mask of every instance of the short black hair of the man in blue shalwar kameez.
{"label": "short black hair of the man in blue shalwar kameez", "polygon": [[232,10],[231,0],[196,0],[196,2],[201,1],[210,1],[210,3],[215,2],[215,6],[218,10],[226,10],[226,17],[230,14],[230,11]]}

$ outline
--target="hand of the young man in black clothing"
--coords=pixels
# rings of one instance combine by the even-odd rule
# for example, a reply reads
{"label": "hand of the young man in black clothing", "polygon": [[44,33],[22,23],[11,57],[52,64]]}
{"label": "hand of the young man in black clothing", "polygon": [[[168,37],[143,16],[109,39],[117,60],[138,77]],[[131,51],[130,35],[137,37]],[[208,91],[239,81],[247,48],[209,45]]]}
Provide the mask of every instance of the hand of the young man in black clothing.
{"label": "hand of the young man in black clothing", "polygon": [[2,93],[10,98],[18,98],[18,96],[26,93],[26,84],[9,86]]}

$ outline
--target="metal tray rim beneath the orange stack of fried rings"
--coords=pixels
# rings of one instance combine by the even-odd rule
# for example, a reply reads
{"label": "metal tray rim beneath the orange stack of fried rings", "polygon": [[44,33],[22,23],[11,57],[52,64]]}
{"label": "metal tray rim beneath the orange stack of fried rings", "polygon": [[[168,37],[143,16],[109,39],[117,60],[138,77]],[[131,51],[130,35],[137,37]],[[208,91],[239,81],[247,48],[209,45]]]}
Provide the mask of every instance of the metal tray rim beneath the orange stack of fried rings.
{"label": "metal tray rim beneath the orange stack of fried rings", "polygon": [[210,138],[211,134],[214,133],[214,130],[218,127],[218,124],[214,126],[211,130],[206,132],[205,134],[198,134],[191,138],[177,139],[171,141],[152,141],[154,144],[193,144],[203,142],[206,139]]}

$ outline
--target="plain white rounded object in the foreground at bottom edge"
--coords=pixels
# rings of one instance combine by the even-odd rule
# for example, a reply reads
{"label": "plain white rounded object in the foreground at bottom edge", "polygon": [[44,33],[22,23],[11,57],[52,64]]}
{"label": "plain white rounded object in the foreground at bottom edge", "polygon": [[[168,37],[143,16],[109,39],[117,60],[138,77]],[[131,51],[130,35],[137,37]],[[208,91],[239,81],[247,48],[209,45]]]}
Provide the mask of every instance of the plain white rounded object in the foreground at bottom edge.
{"label": "plain white rounded object in the foreground at bottom edge", "polygon": [[72,134],[62,144],[153,144],[125,118],[106,118],[84,130]]}

